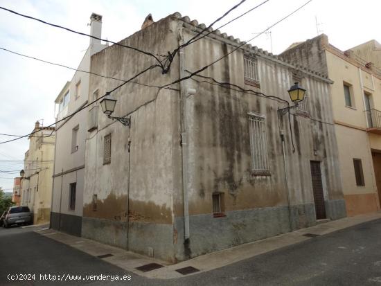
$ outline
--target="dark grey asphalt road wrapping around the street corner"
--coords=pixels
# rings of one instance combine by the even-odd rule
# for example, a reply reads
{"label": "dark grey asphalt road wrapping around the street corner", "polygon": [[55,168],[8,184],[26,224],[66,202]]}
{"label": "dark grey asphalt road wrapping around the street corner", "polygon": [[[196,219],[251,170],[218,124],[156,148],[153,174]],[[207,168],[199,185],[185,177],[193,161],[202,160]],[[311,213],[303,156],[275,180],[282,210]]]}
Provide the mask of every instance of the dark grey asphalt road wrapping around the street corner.
{"label": "dark grey asphalt road wrapping around the street corner", "polygon": [[[381,285],[381,220],[322,235],[176,280],[132,274],[33,229],[0,229],[0,285]],[[10,281],[8,274],[35,274]],[[40,274],[131,276],[124,281],[40,280]]]}

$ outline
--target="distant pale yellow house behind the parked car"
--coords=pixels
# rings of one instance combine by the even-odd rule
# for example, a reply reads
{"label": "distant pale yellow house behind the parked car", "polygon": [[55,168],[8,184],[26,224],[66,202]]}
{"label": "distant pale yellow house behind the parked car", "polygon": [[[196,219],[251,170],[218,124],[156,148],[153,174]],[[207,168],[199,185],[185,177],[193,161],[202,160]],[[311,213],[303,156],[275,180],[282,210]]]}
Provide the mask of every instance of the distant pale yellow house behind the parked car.
{"label": "distant pale yellow house behind the parked car", "polygon": [[54,127],[42,127],[37,121],[25,153],[24,175],[21,177],[21,206],[33,213],[33,224],[49,222],[54,161]]}

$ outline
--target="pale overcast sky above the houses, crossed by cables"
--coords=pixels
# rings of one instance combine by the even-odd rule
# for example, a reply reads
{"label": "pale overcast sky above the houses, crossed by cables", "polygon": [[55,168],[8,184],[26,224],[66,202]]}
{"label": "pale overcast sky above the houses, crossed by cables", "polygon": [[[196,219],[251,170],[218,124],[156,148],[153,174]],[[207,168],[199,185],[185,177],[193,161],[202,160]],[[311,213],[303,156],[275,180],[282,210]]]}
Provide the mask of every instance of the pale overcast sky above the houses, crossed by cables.
{"label": "pale overcast sky above the houses, crossed by cables", "polygon": [[[247,0],[215,27],[257,6],[264,0]],[[222,33],[242,41],[254,37],[285,17],[307,0],[269,0],[256,10],[222,28]],[[0,6],[89,33],[91,12],[103,15],[102,37],[118,42],[140,30],[151,13],[157,21],[174,12],[188,15],[206,26],[239,0],[0,0]],[[250,42],[274,54],[290,44],[328,35],[330,44],[345,51],[370,39],[381,42],[378,0],[312,0],[302,10]],[[0,48],[77,68],[89,38],[0,10]],[[166,51],[163,51],[166,53]],[[40,120],[54,123],[54,100],[74,71],[26,59],[0,50],[0,133],[24,135]],[[0,135],[0,143],[10,138]],[[12,177],[23,168],[21,162],[29,141],[22,138],[0,144],[0,187],[10,191]]]}

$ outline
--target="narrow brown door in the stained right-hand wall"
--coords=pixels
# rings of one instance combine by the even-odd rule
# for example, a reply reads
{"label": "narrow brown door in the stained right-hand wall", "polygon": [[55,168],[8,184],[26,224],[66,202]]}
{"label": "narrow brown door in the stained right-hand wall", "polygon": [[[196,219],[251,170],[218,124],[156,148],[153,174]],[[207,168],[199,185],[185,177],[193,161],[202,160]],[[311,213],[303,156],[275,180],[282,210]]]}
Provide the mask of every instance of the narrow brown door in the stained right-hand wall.
{"label": "narrow brown door in the stained right-hand wall", "polygon": [[326,218],[326,206],[324,204],[323,182],[321,181],[321,170],[319,161],[311,161],[312,190],[314,192],[314,204],[316,219]]}

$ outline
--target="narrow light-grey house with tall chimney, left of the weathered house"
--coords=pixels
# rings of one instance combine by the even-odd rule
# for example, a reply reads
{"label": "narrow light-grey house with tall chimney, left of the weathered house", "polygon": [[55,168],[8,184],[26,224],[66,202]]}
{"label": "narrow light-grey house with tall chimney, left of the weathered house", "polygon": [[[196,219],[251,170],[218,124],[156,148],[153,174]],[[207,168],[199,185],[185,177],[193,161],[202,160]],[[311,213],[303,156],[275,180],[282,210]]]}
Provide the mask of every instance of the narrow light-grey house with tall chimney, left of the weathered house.
{"label": "narrow light-grey house with tall chimney, left of the weathered house", "polygon": [[[90,35],[101,37],[102,16],[90,17]],[[91,38],[89,48],[74,73],[55,100],[56,141],[53,174],[53,204],[51,228],[80,235],[82,225],[82,193],[85,168],[85,138],[87,112],[81,111],[62,120],[87,105],[91,55],[105,48],[100,40]],[[62,120],[58,122],[59,120]]]}

